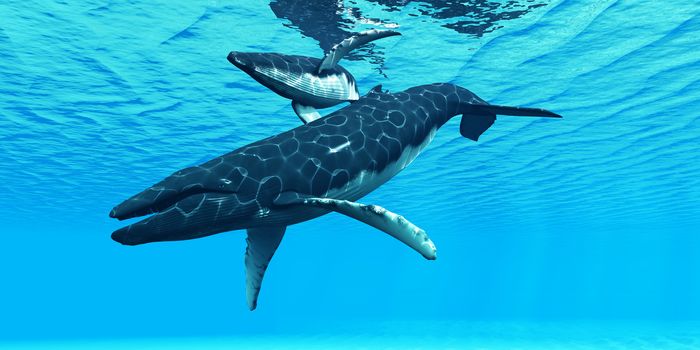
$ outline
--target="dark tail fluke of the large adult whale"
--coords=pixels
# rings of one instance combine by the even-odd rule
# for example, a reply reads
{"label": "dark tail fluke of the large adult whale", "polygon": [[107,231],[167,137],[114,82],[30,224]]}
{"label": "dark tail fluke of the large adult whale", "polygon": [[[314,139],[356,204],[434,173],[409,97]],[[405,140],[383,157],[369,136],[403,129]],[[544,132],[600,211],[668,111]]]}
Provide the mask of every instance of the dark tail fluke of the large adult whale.
{"label": "dark tail fluke of the large adult whale", "polygon": [[488,130],[496,121],[497,114],[518,117],[562,118],[559,114],[540,108],[510,107],[490,104],[469,105],[468,110],[462,113],[462,121],[459,124],[460,134],[472,141],[478,141],[479,136]]}

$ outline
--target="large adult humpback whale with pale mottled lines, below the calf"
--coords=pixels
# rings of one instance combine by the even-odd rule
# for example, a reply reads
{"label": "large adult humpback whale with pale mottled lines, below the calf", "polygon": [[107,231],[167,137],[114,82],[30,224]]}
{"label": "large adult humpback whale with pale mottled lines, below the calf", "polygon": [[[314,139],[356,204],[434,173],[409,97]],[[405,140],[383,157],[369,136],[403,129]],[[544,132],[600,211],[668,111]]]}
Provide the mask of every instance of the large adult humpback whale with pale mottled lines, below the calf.
{"label": "large adult humpback whale with pale mottled lines, below the calf", "polygon": [[490,105],[452,84],[399,93],[377,87],[324,118],[177,171],[129,198],[110,216],[155,214],[115,231],[112,238],[136,245],[247,229],[251,310],[286,227],[330,211],[372,225],[435,259],[425,231],[382,207],[355,201],[405,168],[459,114],[461,134],[474,141],[497,114],[560,117],[542,109]]}

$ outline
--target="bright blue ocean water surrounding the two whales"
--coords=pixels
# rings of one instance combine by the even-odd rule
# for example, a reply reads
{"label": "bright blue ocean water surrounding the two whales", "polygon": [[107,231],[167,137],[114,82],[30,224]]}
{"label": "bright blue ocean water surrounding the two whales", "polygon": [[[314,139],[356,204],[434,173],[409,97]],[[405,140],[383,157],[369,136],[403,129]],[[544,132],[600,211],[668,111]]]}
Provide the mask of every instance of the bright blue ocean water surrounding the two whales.
{"label": "bright blue ocean water surrounding the two whales", "polygon": [[[700,348],[696,1],[4,1],[0,348]],[[121,246],[109,210],[299,125],[231,50],[321,57],[361,92],[452,82],[563,120],[445,125],[362,202],[292,226],[245,304],[244,232]],[[328,113],[330,110],[323,110]]]}

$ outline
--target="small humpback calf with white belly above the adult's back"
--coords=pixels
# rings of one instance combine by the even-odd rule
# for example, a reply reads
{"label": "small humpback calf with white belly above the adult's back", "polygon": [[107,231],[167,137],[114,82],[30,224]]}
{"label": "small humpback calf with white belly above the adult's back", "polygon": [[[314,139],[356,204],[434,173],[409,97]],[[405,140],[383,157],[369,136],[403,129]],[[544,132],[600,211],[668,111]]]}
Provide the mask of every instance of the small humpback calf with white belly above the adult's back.
{"label": "small humpback calf with white belly above the adult's back", "polygon": [[321,117],[316,108],[335,106],[360,98],[355,78],[338,61],[353,49],[381,38],[401,35],[393,30],[367,30],[333,46],[323,59],[231,51],[228,60],[260,84],[292,100],[302,122]]}

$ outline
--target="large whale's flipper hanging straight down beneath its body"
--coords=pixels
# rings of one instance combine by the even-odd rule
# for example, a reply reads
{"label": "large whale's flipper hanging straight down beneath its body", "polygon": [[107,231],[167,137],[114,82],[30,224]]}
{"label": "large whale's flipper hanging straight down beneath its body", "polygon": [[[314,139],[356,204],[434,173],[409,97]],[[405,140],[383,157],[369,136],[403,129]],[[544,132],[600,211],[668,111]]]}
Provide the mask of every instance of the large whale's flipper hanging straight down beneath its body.
{"label": "large whale's flipper hanging straight down beneath its body", "polygon": [[256,227],[248,229],[245,250],[246,299],[250,310],[258,305],[258,294],[267,265],[279,247],[287,226]]}

